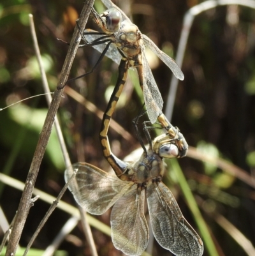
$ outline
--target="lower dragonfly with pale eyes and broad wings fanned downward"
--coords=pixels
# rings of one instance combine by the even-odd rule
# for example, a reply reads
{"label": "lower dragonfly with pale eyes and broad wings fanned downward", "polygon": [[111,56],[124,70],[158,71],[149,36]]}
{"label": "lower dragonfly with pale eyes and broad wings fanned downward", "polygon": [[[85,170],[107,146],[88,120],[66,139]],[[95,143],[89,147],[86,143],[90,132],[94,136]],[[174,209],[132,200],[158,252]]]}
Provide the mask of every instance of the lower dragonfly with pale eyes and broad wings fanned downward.
{"label": "lower dragonfly with pale eyes and broad wings fanned downward", "polygon": [[147,125],[143,123],[143,126],[149,148],[141,142],[143,153],[137,162],[119,160],[112,154],[106,137],[104,153],[112,160],[116,175],[89,163],[75,163],[65,171],[66,182],[73,171],[77,172],[69,190],[77,203],[92,215],[101,215],[113,206],[110,217],[113,245],[126,255],[141,255],[147,248],[146,195],[152,232],[159,245],[177,256],[201,256],[203,242],[200,236],[184,218],[171,191],[161,181],[163,158],[176,157],[179,149],[169,133],[151,140]]}

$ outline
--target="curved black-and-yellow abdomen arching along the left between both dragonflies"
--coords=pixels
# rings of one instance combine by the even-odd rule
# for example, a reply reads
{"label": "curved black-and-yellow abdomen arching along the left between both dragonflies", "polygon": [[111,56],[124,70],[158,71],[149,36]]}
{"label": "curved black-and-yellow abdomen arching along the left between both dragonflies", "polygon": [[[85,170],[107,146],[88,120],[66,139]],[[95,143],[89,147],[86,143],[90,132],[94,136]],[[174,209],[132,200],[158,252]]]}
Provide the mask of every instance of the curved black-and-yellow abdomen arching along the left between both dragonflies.
{"label": "curved black-and-yellow abdomen arching along the left between both dragonflies", "polygon": [[118,177],[122,176],[122,174],[126,172],[128,164],[123,162],[122,160],[119,160],[119,158],[117,158],[117,156],[115,156],[112,153],[110,149],[107,133],[108,133],[108,128],[110,126],[110,121],[112,119],[112,114],[115,110],[115,107],[119,100],[119,96],[126,82],[127,75],[128,75],[128,61],[126,61],[126,59],[122,59],[119,65],[119,75],[116,82],[116,86],[113,89],[112,96],[106,107],[105,114],[103,115],[101,132],[99,134],[99,139],[101,141],[101,146],[103,148],[103,154],[106,160],[108,161],[108,163],[110,163],[110,165],[112,166],[112,169],[115,171],[115,174]]}

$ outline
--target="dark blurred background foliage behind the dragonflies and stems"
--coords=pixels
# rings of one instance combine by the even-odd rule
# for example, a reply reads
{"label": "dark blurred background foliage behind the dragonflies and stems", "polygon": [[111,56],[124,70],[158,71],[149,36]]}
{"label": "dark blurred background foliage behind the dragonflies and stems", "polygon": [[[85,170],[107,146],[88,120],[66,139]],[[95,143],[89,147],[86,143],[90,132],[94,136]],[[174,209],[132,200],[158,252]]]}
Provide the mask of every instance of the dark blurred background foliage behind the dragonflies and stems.
{"label": "dark blurred background foliage behind the dragonflies and stems", "polygon": [[[48,82],[54,91],[68,50],[68,45],[56,38],[71,41],[75,20],[82,10],[83,2],[11,0],[1,3],[1,108],[43,93],[28,26],[28,13],[34,15]],[[125,3],[130,6],[133,22],[140,31],[175,58],[184,15],[200,1],[125,0]],[[96,7],[99,12],[103,10],[100,1],[96,1]],[[195,18],[182,66],[185,79],[179,82],[171,121],[180,128],[190,146],[228,160],[251,177],[254,176],[255,166],[254,13],[251,8],[219,6]],[[91,19],[87,27],[96,29]],[[92,49],[79,49],[70,78],[91,70],[98,57],[99,54]],[[160,61],[152,72],[166,101],[172,73]],[[117,65],[105,57],[94,73],[69,86],[98,109],[105,110],[109,94],[106,90],[115,85],[116,79]],[[112,151],[119,158],[124,158],[133,149],[140,147],[131,121],[140,111],[142,103],[129,80],[113,118],[133,135],[133,140],[126,140],[113,130],[109,131]],[[0,112],[1,172],[25,181],[46,113],[44,96]],[[72,162],[86,161],[108,170],[98,139],[101,120],[68,94],[64,94],[58,113]],[[198,160],[184,158],[179,163],[212,232],[219,255],[246,255],[230,234],[215,223],[212,213],[228,219],[254,245],[254,189],[229,172],[204,165]],[[57,196],[64,185],[64,169],[61,150],[53,135],[41,164],[36,188]],[[170,186],[175,191],[182,213],[200,233],[178,184],[171,181]],[[17,211],[20,196],[21,192],[17,189],[1,184],[0,202],[8,222],[11,222]],[[63,200],[75,205],[69,192],[65,193]],[[48,204],[40,200],[31,208],[20,240],[21,246],[27,245],[47,209]],[[109,216],[106,213],[97,218],[109,224]],[[45,250],[68,218],[67,213],[57,209],[41,230],[33,247]],[[99,255],[121,255],[113,247],[110,237],[96,229],[92,230]],[[60,250],[66,250],[69,255],[90,255],[81,225],[71,234],[61,244]],[[3,237],[2,231],[0,236]],[[73,236],[75,239],[70,239]],[[170,252],[155,242],[153,255],[170,255]],[[207,248],[203,255],[208,255]]]}

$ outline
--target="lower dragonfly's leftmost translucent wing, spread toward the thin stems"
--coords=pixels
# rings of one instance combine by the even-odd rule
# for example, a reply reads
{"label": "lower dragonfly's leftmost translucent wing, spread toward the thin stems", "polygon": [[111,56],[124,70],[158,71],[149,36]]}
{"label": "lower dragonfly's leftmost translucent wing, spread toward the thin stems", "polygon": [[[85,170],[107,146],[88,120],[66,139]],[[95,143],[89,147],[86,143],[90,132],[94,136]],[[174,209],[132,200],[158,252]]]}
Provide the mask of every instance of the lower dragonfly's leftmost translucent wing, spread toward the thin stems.
{"label": "lower dragonfly's leftmost translucent wing, spread toward the thin stems", "polygon": [[117,176],[89,163],[75,163],[66,169],[66,182],[72,176],[73,170],[77,170],[77,174],[68,188],[77,203],[93,215],[105,213],[134,184],[121,181]]}

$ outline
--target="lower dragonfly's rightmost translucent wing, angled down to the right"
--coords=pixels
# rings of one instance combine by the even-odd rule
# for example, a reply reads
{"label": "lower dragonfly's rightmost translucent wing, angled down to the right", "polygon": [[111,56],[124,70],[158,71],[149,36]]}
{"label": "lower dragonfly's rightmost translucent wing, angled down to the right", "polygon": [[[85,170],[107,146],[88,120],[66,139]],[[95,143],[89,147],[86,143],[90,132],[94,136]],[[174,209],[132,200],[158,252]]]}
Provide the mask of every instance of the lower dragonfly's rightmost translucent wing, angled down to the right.
{"label": "lower dragonfly's rightmost translucent wing, angled down to the right", "polygon": [[170,190],[152,183],[147,188],[153,234],[163,248],[177,256],[201,256],[203,242],[182,215]]}

